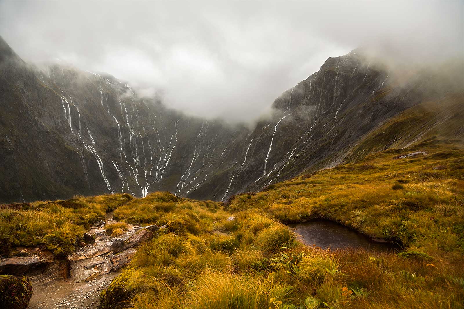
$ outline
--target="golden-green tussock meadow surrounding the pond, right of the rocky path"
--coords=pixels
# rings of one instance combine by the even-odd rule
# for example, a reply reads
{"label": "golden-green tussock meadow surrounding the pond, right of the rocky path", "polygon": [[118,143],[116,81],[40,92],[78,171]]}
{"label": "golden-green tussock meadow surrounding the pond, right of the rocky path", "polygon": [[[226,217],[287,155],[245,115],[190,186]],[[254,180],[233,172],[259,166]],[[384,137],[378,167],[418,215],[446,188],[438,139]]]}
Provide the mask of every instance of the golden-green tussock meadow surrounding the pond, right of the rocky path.
{"label": "golden-green tussock meadow surrounding the pond, right of the rocky path", "polygon": [[[100,306],[463,308],[463,173],[461,145],[432,141],[236,195],[225,205],[166,192],[135,199],[115,217],[166,229],[102,292]],[[403,249],[322,250],[303,245],[283,224],[311,218]]]}

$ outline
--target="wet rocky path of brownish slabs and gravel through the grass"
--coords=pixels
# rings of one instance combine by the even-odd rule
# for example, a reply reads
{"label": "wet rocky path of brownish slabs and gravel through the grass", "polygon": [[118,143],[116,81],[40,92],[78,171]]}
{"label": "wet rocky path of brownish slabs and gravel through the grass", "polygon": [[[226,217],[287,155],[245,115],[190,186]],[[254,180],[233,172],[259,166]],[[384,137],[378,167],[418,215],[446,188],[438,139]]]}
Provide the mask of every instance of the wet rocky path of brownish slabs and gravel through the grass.
{"label": "wet rocky path of brownish slabs and gravel through the grass", "polygon": [[[108,219],[105,223],[116,221]],[[107,236],[104,225],[92,227],[87,234],[97,237],[95,243],[74,253],[71,257],[71,277],[57,277],[58,263],[49,263],[43,270],[29,273],[33,295],[31,309],[96,309],[100,292],[107,288],[121,268],[128,265],[137,249],[135,246],[153,236],[156,225],[137,227],[128,224],[128,229],[117,238]]]}

